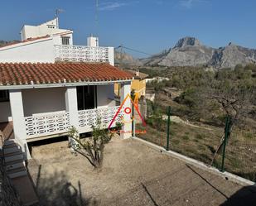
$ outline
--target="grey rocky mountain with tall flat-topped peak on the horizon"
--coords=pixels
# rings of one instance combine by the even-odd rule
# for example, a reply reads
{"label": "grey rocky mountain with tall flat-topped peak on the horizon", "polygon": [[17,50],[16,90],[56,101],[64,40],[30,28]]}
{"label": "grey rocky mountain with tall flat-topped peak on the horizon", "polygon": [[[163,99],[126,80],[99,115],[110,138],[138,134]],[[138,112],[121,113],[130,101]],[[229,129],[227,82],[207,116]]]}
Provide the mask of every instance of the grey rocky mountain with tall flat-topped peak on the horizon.
{"label": "grey rocky mountain with tall flat-topped peak on the horizon", "polygon": [[215,49],[201,44],[194,37],[185,37],[179,40],[173,48],[141,61],[144,65],[205,65],[214,68],[234,68],[238,64],[256,63],[256,50],[231,43],[228,46]]}

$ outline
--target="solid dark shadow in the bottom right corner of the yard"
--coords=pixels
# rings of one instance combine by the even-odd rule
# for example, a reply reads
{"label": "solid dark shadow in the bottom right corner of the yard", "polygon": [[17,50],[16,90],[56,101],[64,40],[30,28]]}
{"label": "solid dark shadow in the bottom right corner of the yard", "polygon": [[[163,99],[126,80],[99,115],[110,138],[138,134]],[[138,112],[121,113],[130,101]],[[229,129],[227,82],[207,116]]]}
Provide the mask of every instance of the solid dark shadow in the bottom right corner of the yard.
{"label": "solid dark shadow in the bottom right corner of the yard", "polygon": [[220,206],[254,206],[256,205],[256,184],[239,189]]}

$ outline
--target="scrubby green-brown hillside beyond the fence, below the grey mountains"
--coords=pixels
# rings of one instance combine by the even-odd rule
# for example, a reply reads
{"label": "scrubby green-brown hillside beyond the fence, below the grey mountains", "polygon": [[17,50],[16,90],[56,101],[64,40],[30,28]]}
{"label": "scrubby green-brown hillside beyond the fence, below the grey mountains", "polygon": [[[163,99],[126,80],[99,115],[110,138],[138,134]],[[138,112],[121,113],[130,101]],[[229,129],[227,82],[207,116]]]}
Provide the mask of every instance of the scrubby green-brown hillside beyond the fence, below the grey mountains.
{"label": "scrubby green-brown hillside beyond the fence, below the grey mountains", "polygon": [[169,80],[147,84],[156,98],[147,102],[147,133],[139,137],[167,146],[167,107],[171,106],[171,116],[182,120],[171,122],[171,150],[209,165],[213,161],[220,169],[225,120],[230,117],[225,169],[256,180],[256,65],[141,70]]}

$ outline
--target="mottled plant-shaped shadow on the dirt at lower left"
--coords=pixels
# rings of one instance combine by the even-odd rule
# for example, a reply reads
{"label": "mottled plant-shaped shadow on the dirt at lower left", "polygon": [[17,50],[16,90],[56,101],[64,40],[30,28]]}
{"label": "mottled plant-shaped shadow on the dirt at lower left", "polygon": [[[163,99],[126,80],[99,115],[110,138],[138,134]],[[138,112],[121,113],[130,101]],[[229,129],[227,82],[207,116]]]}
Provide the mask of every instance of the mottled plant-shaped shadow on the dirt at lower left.
{"label": "mottled plant-shaped shadow on the dirt at lower left", "polygon": [[85,206],[97,205],[94,199],[85,199],[82,195],[80,181],[73,185],[64,172],[55,172],[51,175],[41,176],[39,165],[35,182],[36,192],[40,206]]}

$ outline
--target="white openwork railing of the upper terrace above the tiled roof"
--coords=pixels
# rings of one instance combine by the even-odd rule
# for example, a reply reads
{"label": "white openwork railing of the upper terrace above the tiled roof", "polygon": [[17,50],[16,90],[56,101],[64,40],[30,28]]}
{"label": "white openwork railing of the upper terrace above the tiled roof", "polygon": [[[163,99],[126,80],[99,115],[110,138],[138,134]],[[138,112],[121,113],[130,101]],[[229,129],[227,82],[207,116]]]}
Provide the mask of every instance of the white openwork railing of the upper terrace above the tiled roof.
{"label": "white openwork railing of the upper terrace above the tiled roof", "polygon": [[56,61],[111,62],[109,47],[55,46]]}

